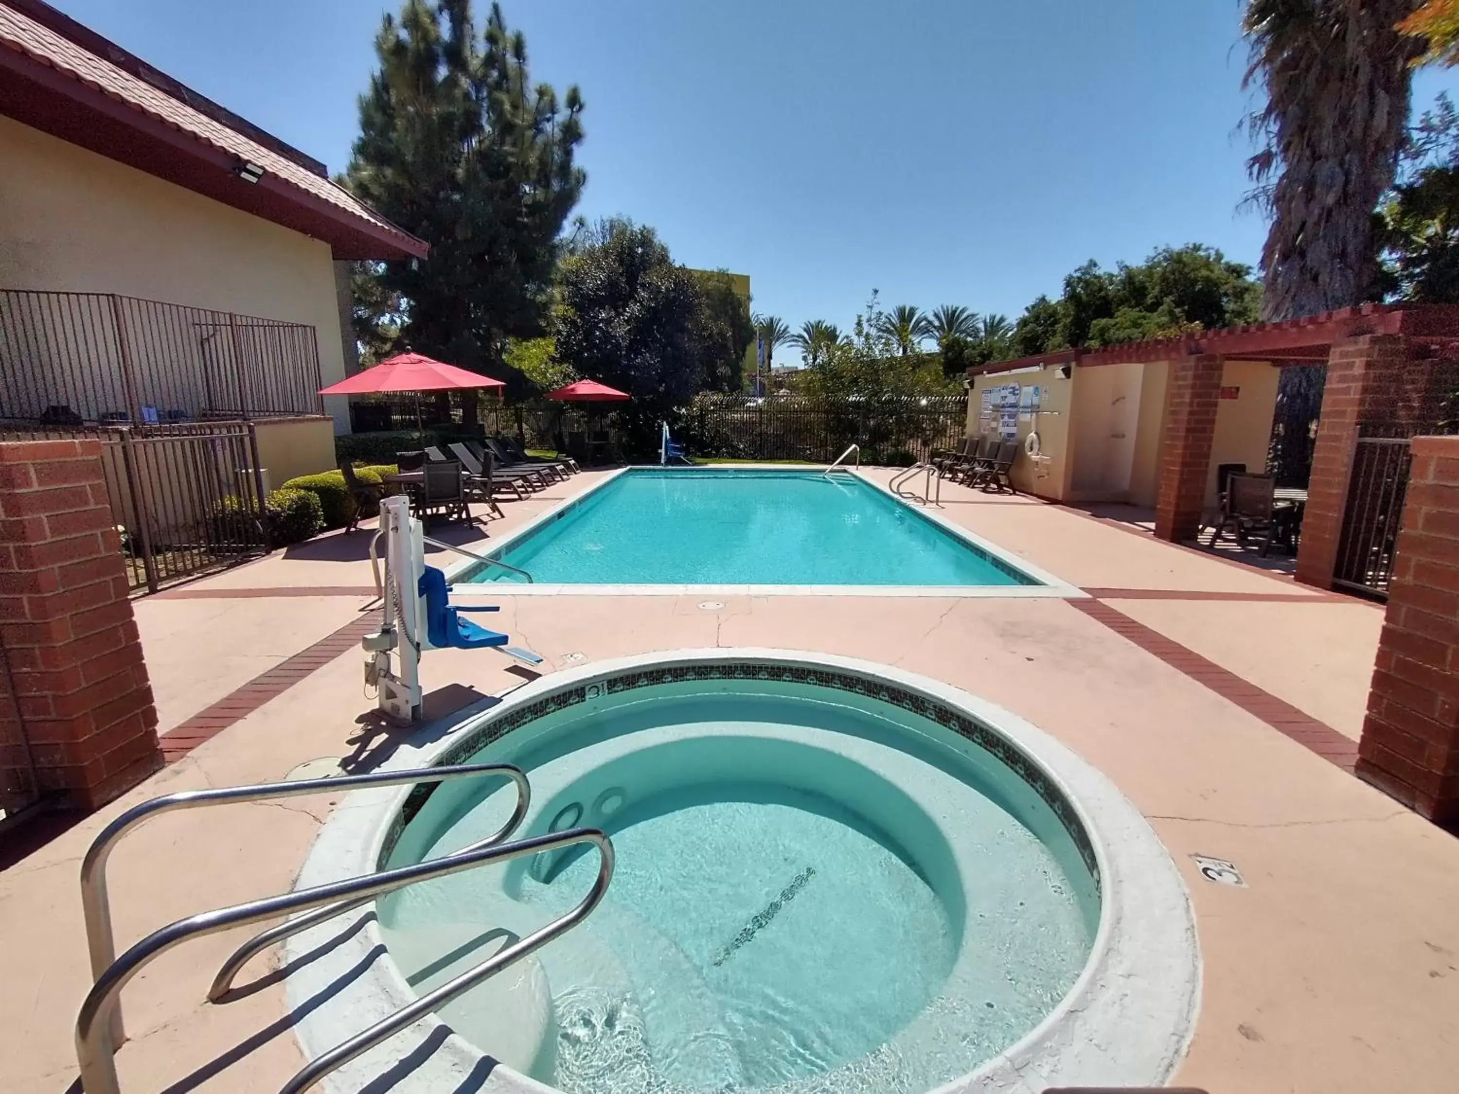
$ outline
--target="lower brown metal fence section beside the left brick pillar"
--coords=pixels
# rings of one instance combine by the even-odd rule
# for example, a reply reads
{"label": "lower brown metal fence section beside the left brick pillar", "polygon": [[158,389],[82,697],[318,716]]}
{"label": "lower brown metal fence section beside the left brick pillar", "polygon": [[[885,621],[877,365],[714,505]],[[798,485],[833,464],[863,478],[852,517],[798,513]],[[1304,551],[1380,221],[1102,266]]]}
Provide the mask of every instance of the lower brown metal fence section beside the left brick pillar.
{"label": "lower brown metal fence section beside the left brick pillar", "polygon": [[236,566],[268,546],[251,422],[99,432],[133,589]]}

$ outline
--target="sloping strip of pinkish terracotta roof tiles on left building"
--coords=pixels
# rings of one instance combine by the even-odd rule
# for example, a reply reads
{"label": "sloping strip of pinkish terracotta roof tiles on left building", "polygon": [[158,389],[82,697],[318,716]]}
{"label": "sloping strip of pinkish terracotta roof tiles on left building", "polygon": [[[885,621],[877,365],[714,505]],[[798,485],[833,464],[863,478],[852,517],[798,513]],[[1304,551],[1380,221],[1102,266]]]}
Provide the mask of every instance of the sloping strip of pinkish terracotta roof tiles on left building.
{"label": "sloping strip of pinkish terracotta roof tiles on left building", "polygon": [[90,50],[12,7],[0,4],[0,47],[23,54],[64,76],[99,90],[139,114],[168,125],[182,134],[263,166],[268,175],[305,194],[321,198],[340,212],[368,222],[376,230],[394,236],[407,251],[423,244],[390,223],[385,217],[327,176],[315,174],[287,156],[229,128],[223,123],[194,109],[181,99],[153,88],[146,80],[112,64]]}

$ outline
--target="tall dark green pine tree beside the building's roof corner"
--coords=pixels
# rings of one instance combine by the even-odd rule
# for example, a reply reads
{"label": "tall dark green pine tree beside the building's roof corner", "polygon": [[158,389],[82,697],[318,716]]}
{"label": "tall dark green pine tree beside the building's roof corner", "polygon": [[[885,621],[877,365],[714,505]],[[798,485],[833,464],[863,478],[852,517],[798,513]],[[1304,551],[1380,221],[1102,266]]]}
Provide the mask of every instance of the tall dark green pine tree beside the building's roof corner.
{"label": "tall dark green pine tree beside the building's roof corner", "polygon": [[512,381],[506,340],[544,330],[557,238],[585,181],[582,96],[569,88],[559,104],[531,82],[498,4],[479,29],[470,0],[407,0],[375,51],[346,182],[430,244],[429,258],[372,274],[403,300],[400,344]]}

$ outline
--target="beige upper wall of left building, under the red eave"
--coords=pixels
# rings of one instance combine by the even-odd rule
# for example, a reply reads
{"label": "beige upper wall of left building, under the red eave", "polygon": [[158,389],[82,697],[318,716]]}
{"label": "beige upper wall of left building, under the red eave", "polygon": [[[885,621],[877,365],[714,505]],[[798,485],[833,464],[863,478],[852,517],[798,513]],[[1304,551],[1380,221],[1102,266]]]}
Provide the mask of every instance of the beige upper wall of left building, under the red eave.
{"label": "beige upper wall of left building, under the red eave", "polygon": [[[315,328],[344,378],[328,244],[0,117],[0,287],[101,292]],[[349,430],[344,398],[327,400]]]}

